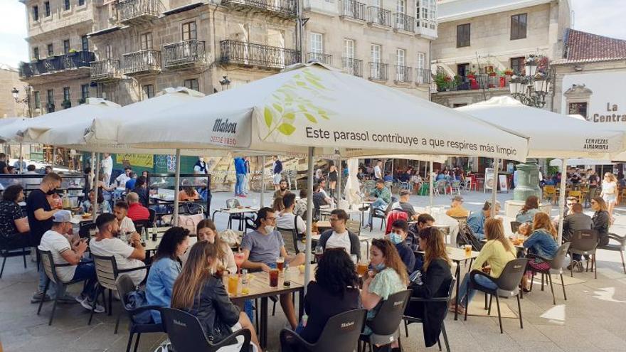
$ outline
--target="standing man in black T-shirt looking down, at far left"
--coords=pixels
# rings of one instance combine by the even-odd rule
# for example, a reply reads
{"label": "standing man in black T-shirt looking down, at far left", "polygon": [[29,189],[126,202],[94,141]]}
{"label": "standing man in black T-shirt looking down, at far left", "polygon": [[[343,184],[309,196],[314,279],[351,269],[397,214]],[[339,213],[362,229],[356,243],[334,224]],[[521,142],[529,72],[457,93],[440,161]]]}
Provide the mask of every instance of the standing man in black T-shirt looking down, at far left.
{"label": "standing man in black T-shirt looking down, at far left", "polygon": [[[26,198],[26,216],[28,217],[28,226],[31,228],[31,245],[33,247],[40,245],[43,234],[52,228],[52,217],[58,212],[58,209],[51,207],[48,202],[48,196],[56,194],[56,188],[60,186],[61,177],[51,172],[41,179],[38,189],[33,189],[31,193],[28,193],[28,198]],[[39,262],[39,260],[37,261]],[[41,262],[39,265],[41,265]],[[51,297],[55,297],[55,286],[50,287],[46,297],[43,297],[43,289],[46,287],[46,282],[48,282],[48,277],[43,267],[40,267],[39,286],[31,299],[31,303],[41,302],[41,299],[47,301]]]}

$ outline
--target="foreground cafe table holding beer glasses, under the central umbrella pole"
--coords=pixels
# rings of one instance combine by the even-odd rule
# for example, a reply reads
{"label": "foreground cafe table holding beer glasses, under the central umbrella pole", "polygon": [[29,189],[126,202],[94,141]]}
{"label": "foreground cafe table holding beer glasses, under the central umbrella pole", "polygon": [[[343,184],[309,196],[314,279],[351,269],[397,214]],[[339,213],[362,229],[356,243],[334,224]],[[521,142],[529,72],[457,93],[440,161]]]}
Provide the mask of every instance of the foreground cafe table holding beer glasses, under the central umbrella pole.
{"label": "foreground cafe table holding beer glasses, under the central umbrella pole", "polygon": [[[304,314],[304,274],[301,274],[297,268],[290,268],[290,274],[292,274],[292,280],[290,280],[290,286],[285,286],[285,272],[284,270],[278,274],[277,287],[270,287],[270,274],[267,272],[253,272],[250,274],[251,279],[248,283],[250,292],[248,294],[228,294],[230,300],[233,302],[241,302],[247,299],[261,299],[260,313],[261,318],[259,321],[259,343],[262,348],[267,346],[267,299],[272,296],[288,293],[298,293],[298,314],[299,319]],[[224,277],[224,286],[228,291],[228,277]],[[241,285],[241,282],[239,282]],[[241,292],[241,289],[238,289]]]}

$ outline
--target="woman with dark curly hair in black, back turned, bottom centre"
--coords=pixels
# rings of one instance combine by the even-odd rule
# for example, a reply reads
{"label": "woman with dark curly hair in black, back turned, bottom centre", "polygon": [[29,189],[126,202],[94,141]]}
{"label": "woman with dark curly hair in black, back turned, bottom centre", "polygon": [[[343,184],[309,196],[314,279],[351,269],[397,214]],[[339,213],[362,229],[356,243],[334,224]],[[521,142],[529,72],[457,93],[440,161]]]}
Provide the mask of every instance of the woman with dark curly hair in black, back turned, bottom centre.
{"label": "woman with dark curly hair in black, back turned, bottom centre", "polygon": [[[331,316],[358,309],[359,289],[354,262],[341,248],[324,252],[304,296],[304,313],[308,319],[296,332],[309,343],[315,343]],[[329,304],[332,302],[332,304]]]}

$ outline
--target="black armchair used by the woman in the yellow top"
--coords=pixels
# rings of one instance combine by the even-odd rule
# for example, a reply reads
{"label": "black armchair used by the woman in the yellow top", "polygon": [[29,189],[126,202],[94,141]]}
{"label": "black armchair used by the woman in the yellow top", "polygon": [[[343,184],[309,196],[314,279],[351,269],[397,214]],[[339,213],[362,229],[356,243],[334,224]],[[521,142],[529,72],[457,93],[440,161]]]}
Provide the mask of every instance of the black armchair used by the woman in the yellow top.
{"label": "black armchair used by the woman in the yellow top", "polygon": [[[470,285],[468,291],[470,289],[477,289],[479,291],[484,292],[485,294],[490,294],[489,297],[489,311],[487,314],[491,314],[492,312],[492,301],[494,296],[496,297],[496,305],[498,307],[498,321],[500,323],[500,334],[504,334],[504,330],[502,329],[502,315],[500,314],[500,300],[498,297],[517,297],[517,309],[519,311],[519,327],[524,329],[524,324],[521,321],[521,304],[519,303],[519,282],[521,282],[521,277],[524,276],[524,272],[526,272],[526,265],[528,264],[528,259],[526,258],[517,258],[516,260],[511,260],[506,263],[504,270],[502,270],[502,274],[500,277],[494,278],[490,277],[488,274],[480,270],[472,270],[470,272]],[[476,282],[476,276],[482,275],[486,277],[494,284],[496,284],[496,289],[488,289],[487,287],[482,286],[478,282]],[[465,307],[465,320],[467,320],[467,311],[470,310],[470,304],[467,304]]]}

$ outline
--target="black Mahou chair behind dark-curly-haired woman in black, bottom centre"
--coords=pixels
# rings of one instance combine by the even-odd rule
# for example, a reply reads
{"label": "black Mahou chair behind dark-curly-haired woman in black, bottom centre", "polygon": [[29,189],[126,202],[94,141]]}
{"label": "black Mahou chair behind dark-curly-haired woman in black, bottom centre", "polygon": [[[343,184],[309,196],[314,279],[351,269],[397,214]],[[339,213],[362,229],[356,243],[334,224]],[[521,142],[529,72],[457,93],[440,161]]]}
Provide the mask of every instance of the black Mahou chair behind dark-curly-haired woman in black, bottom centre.
{"label": "black Mahou chair behind dark-curly-haired woman in black, bottom centre", "polygon": [[280,331],[282,352],[354,351],[363,331],[366,309],[354,309],[331,316],[315,343],[308,343],[294,331]]}

